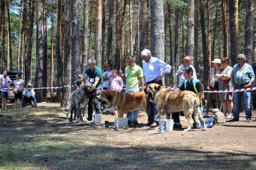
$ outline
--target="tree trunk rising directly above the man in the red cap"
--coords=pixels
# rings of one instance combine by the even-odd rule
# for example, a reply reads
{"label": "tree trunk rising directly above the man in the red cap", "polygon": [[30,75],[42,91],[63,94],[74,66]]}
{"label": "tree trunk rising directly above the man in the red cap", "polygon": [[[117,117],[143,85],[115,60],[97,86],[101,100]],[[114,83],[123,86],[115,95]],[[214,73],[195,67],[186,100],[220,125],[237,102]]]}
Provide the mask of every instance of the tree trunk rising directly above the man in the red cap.
{"label": "tree trunk rising directly above the man in the red cap", "polygon": [[[189,55],[191,60],[194,61],[195,50],[195,0],[188,0],[188,21],[187,21],[187,43],[186,55]],[[193,62],[192,62],[193,65]]]}

